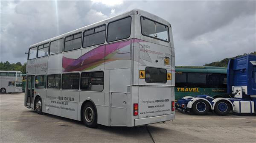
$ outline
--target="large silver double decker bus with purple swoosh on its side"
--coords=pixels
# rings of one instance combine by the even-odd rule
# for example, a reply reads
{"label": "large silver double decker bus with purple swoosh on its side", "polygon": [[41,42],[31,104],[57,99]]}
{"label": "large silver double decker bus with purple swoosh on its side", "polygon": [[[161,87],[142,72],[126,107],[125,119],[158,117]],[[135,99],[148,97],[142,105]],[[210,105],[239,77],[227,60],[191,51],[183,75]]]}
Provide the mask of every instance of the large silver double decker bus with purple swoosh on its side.
{"label": "large silver double decker bus with purple swoosh on its side", "polygon": [[88,127],[175,118],[169,22],[134,9],[31,45],[24,106]]}

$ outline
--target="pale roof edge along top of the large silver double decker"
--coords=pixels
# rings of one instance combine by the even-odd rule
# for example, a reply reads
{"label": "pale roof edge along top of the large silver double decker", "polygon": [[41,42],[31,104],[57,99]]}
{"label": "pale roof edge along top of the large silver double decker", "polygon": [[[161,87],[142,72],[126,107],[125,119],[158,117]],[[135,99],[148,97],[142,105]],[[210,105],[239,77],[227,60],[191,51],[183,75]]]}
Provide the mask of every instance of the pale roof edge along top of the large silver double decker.
{"label": "pale roof edge along top of the large silver double decker", "polygon": [[119,20],[123,17],[127,17],[131,14],[139,14],[139,15],[143,15],[145,17],[148,17],[150,19],[154,19],[156,20],[157,22],[161,22],[165,25],[171,25],[168,21],[166,20],[163,20],[162,18],[154,15],[154,14],[151,14],[147,11],[143,11],[143,10],[140,10],[140,9],[133,9],[131,11],[127,11],[125,13],[122,13],[122,14],[119,14],[117,16],[114,16],[114,17],[110,17],[108,19],[105,19],[105,20],[102,20],[102,21],[99,21],[99,22],[96,22],[96,23],[93,23],[93,24],[90,24],[90,25],[87,25],[87,26],[84,26],[82,28],[78,28],[76,30],[73,30],[73,31],[70,31],[70,32],[67,32],[67,33],[64,33],[64,34],[61,34],[61,35],[58,35],[58,36],[55,36],[53,38],[50,38],[50,39],[47,39],[47,40],[44,40],[42,42],[38,42],[38,43],[35,43],[33,45],[30,45],[29,48],[33,48],[35,46],[38,46],[38,45],[42,45],[42,44],[45,44],[47,42],[51,42],[51,41],[54,41],[54,40],[57,40],[57,39],[61,39],[61,38],[64,38],[65,36],[69,36],[69,35],[72,35],[72,34],[76,34],[78,32],[81,32],[81,31],[84,31],[84,30],[88,30],[88,29],[91,29],[91,28],[95,28],[97,26],[100,26],[100,25],[104,25],[108,22],[112,22],[112,21],[115,21],[115,20]]}

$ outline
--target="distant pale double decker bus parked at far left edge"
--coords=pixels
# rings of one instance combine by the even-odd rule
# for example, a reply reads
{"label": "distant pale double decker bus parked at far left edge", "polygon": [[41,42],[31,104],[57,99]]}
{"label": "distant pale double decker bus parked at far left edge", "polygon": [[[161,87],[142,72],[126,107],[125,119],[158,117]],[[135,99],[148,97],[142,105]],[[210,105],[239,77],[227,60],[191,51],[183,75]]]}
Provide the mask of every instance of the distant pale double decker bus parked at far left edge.
{"label": "distant pale double decker bus parked at far left edge", "polygon": [[0,70],[0,92],[22,92],[22,72]]}

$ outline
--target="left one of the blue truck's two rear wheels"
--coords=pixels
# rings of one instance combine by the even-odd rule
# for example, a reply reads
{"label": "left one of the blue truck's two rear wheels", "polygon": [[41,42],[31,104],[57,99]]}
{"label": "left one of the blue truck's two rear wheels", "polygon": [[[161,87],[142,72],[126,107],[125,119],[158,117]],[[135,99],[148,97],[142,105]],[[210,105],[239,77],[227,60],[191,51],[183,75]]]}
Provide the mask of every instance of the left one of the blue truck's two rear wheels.
{"label": "left one of the blue truck's two rear wheels", "polygon": [[209,104],[205,100],[198,100],[195,101],[192,105],[192,111],[196,115],[206,115],[207,112],[209,111]]}

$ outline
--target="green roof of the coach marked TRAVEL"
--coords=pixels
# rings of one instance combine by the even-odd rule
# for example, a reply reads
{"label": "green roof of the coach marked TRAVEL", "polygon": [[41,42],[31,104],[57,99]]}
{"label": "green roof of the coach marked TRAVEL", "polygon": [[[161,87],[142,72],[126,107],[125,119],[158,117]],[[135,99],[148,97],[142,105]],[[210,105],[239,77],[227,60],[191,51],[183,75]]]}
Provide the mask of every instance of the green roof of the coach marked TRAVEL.
{"label": "green roof of the coach marked TRAVEL", "polygon": [[175,72],[227,74],[227,68],[226,67],[207,67],[207,66],[175,66]]}

